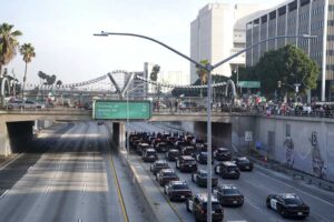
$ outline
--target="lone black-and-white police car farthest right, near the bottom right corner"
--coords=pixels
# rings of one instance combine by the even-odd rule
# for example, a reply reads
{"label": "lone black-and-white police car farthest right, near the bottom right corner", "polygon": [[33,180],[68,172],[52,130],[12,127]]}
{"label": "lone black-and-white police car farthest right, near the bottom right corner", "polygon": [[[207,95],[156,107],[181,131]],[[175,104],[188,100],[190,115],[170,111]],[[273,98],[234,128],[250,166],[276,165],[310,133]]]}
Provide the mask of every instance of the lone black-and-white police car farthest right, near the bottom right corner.
{"label": "lone black-and-white police car farthest right, near the bottom right corner", "polygon": [[304,219],[310,214],[310,206],[295,193],[269,194],[266,205],[268,209],[277,211],[283,218]]}

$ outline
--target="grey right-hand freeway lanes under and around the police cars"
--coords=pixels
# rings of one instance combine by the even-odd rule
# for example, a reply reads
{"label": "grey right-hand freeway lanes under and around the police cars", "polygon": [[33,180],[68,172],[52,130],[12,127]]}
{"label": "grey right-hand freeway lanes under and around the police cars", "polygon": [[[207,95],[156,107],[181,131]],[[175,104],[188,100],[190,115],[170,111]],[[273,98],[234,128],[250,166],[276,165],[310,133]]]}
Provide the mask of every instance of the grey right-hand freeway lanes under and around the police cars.
{"label": "grey right-hand freeway lanes under and around the police cars", "polygon": [[[176,131],[168,128],[163,128],[160,125],[147,124],[147,123],[131,123],[130,131],[148,131],[148,132],[163,132],[163,131]],[[136,154],[134,154],[136,155]],[[163,154],[159,154],[159,159],[164,159]],[[151,178],[151,183],[156,188],[156,193],[164,195],[163,188],[160,188],[156,181],[155,176],[149,172],[150,163],[144,163],[140,157],[137,157],[138,162],[141,162],[140,165],[146,170],[147,174]],[[216,161],[217,163],[217,161]],[[216,164],[215,163],[215,164]],[[175,169],[175,163],[169,162],[169,165]],[[206,165],[199,164],[200,169],[206,169]],[[181,173],[176,170],[177,174],[181,180],[187,181],[193,193],[206,192],[206,189],[198,188],[191,182],[190,173]],[[279,180],[279,176],[284,180]],[[291,181],[291,182],[288,182]],[[238,180],[225,180],[219,178],[218,183],[225,184],[235,184],[245,196],[245,203],[240,208],[224,208],[225,218],[224,221],[247,221],[247,222],[281,222],[281,221],[291,221],[283,219],[277,212],[266,208],[265,200],[266,196],[271,193],[296,193],[298,194],[310,206],[311,214],[304,221],[322,221],[331,222],[334,218],[334,204],[321,199],[317,195],[313,195],[307,192],[307,190],[302,189],[298,184],[294,183],[289,178],[277,172],[262,169],[259,165],[255,165],[253,172],[242,172],[242,175]],[[316,189],[316,188],[310,188]],[[333,195],[333,193],[332,193]],[[168,201],[166,199],[166,201]],[[186,211],[185,203],[179,202],[169,202],[170,206],[178,214],[180,221],[194,221],[194,216]]]}

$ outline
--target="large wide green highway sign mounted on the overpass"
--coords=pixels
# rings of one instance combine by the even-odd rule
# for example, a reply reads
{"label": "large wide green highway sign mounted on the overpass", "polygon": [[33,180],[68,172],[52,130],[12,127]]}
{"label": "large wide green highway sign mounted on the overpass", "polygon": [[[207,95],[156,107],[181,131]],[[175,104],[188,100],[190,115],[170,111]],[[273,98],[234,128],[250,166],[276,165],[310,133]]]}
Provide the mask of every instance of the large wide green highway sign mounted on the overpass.
{"label": "large wide green highway sign mounted on the overpass", "polygon": [[[128,107],[127,107],[128,105]],[[95,120],[148,120],[151,118],[150,101],[95,100]]]}

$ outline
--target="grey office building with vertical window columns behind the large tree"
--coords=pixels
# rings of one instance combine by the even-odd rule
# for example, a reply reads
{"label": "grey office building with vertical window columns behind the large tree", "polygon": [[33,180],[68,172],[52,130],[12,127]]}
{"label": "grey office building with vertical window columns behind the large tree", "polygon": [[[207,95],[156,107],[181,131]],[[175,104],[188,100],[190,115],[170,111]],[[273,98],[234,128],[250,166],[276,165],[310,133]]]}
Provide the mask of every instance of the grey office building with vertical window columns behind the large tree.
{"label": "grey office building with vertical window columns behind the large tree", "polygon": [[[264,52],[294,44],[321,68],[315,95],[334,100],[334,0],[289,0],[247,21],[246,46],[276,36],[312,34],[316,39],[279,38],[246,52],[246,64],[255,65]],[[314,97],[314,94],[312,94]]]}

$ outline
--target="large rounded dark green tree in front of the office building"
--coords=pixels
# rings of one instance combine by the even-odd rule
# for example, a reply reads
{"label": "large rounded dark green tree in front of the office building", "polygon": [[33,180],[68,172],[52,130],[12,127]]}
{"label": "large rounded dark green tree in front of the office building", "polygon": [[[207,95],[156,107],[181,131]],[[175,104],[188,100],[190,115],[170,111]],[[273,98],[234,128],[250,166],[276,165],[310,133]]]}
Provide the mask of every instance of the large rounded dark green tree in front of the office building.
{"label": "large rounded dark green tree in front of the office building", "polygon": [[320,69],[301,49],[287,44],[265,52],[256,64],[255,72],[261,80],[262,92],[273,98],[278,81],[283,89],[291,92],[294,92],[294,83],[301,83],[301,93],[315,89]]}

